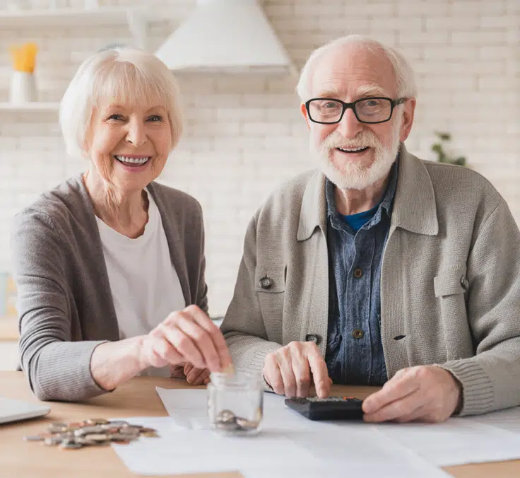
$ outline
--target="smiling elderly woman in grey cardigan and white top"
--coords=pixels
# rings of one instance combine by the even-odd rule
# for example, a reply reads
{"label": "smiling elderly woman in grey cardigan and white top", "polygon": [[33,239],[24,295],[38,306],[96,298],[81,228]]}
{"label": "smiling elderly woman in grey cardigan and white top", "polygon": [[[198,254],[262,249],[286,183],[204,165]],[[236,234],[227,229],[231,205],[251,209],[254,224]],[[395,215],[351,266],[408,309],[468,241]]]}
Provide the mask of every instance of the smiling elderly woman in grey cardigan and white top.
{"label": "smiling elderly woman in grey cardigan and white top", "polygon": [[67,150],[88,166],[21,211],[12,238],[21,367],[40,400],[230,365],[206,315],[201,206],[154,182],[181,136],[178,100],[158,58],[109,49],[61,101]]}

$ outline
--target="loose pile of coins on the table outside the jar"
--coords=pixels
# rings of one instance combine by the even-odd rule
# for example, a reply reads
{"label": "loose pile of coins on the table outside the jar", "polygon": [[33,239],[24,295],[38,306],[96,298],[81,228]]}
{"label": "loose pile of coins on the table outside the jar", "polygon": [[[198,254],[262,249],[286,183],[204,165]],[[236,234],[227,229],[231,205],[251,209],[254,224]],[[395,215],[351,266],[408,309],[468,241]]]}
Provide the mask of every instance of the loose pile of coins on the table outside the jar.
{"label": "loose pile of coins on the table outside the jar", "polygon": [[127,445],[140,436],[158,437],[157,431],[140,425],[131,425],[124,420],[87,419],[69,423],[56,422],[46,433],[25,436],[25,441],[39,441],[47,446],[59,446],[64,450],[77,450],[84,446],[119,443]]}

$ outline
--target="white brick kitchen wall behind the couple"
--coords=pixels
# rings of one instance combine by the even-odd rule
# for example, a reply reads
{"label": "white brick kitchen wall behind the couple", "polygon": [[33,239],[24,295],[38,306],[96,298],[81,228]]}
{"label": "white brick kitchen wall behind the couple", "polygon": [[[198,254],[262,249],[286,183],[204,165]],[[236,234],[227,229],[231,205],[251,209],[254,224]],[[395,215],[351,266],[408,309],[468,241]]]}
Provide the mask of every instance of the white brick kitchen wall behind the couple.
{"label": "white brick kitchen wall behind the couple", "polygon": [[[40,8],[49,3],[32,0]],[[520,222],[520,0],[262,3],[298,68],[313,48],[348,32],[372,35],[401,49],[415,67],[420,91],[407,141],[410,151],[433,158],[433,132],[451,132],[454,153],[467,156],[471,167],[489,178]],[[153,49],[195,1],[146,4],[171,18],[150,25]],[[0,31],[0,100],[7,99],[6,51],[13,42],[37,41],[40,98],[59,100],[78,59],[110,42],[128,42],[129,37],[125,28],[109,27]],[[160,179],[193,194],[203,205],[211,313],[222,314],[235,285],[249,218],[276,185],[312,165],[307,129],[293,93],[296,78],[179,76],[179,81],[187,131]],[[0,112],[0,269],[8,268],[13,214],[82,168],[82,163],[66,158],[55,115]]]}

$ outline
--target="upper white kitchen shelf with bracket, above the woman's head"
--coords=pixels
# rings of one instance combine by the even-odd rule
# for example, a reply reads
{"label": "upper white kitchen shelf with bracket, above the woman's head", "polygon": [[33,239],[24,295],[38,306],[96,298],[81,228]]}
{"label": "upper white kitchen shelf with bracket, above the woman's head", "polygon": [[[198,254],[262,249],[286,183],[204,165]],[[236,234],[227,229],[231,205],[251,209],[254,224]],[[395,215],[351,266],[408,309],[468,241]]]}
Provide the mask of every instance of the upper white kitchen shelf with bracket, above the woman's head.
{"label": "upper white kitchen shelf with bracket, above the woman's head", "polygon": [[100,25],[129,25],[136,46],[146,49],[146,27],[149,21],[143,8],[47,8],[0,11],[0,28],[57,28]]}

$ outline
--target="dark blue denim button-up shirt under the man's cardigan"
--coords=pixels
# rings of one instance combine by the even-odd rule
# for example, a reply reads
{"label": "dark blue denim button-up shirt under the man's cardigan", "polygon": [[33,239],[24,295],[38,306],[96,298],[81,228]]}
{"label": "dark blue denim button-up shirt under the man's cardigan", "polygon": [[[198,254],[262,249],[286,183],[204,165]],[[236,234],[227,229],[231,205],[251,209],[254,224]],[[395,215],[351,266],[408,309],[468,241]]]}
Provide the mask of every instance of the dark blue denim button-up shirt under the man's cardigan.
{"label": "dark blue denim button-up shirt under the man's cardigan", "polygon": [[333,383],[383,385],[381,267],[397,184],[397,161],[382,202],[370,221],[353,231],[336,210],[326,180],[329,249],[329,332],[326,364]]}

